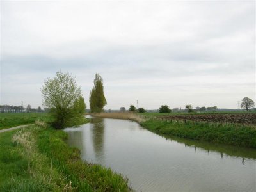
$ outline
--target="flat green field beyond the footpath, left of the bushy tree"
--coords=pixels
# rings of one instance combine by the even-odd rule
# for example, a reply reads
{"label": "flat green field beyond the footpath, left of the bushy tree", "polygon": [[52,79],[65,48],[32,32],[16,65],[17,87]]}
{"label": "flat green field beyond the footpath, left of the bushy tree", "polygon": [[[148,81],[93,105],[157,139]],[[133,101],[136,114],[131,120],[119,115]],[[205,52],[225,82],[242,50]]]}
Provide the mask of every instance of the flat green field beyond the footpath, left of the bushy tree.
{"label": "flat green field beyond the footpath, left of the bushy tree", "polygon": [[49,113],[0,113],[0,129],[34,124],[36,120],[51,122],[53,118]]}

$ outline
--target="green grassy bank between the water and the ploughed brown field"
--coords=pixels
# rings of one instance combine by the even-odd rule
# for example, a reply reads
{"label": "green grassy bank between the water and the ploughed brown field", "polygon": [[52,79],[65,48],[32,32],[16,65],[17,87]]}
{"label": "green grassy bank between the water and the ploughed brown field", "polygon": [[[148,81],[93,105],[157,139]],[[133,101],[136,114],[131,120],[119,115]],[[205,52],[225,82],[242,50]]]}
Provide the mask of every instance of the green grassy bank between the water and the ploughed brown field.
{"label": "green grassy bank between the water and the ploughed brown field", "polygon": [[157,120],[150,118],[141,125],[166,136],[256,148],[256,129],[239,124]]}

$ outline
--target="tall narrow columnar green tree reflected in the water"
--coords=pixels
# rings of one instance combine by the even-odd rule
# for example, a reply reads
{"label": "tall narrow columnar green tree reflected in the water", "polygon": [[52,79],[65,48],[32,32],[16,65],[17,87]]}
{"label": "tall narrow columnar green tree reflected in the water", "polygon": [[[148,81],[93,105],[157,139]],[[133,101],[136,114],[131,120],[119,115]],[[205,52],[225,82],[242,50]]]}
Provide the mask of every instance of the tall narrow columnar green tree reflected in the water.
{"label": "tall narrow columnar green tree reflected in the water", "polygon": [[90,92],[90,109],[92,113],[103,111],[107,101],[104,95],[103,79],[99,74],[95,74],[94,87]]}

